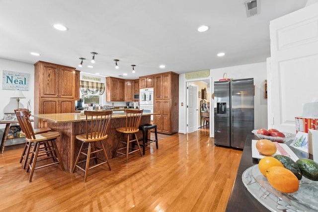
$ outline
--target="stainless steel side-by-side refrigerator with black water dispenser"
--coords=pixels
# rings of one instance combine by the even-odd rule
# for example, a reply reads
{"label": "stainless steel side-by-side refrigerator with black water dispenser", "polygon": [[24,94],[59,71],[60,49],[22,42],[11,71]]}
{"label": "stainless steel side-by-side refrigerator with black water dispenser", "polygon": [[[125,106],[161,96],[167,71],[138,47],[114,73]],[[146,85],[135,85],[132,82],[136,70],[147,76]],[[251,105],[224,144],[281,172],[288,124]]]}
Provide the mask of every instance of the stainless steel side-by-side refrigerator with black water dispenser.
{"label": "stainless steel side-by-side refrigerator with black water dispenser", "polygon": [[214,144],[243,148],[253,129],[253,78],[214,82]]}

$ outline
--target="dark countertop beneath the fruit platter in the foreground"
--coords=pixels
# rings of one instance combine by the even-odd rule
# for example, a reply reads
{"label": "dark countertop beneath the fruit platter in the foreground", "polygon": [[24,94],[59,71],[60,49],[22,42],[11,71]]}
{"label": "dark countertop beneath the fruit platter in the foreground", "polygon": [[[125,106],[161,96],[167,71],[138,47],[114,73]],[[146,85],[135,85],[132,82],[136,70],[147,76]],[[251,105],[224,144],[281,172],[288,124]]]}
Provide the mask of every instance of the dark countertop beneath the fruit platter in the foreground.
{"label": "dark countertop beneath the fruit platter in the foreground", "polygon": [[[250,166],[254,164],[258,164],[259,159],[252,158],[252,148],[251,148],[251,141],[252,140],[259,140],[254,135],[248,135],[246,137],[244,149],[242,152],[242,156],[239,163],[239,169],[237,173],[237,177],[234,182],[234,186],[232,189],[232,193],[228,202],[228,206],[226,212],[269,212],[261,203],[259,203],[245,188],[242,182],[242,174],[243,172]],[[290,142],[286,142],[286,144],[290,144]],[[295,154],[299,158],[308,157],[308,154],[302,152],[298,149],[294,149],[293,147],[289,146]],[[312,159],[312,155],[309,155],[309,158]]]}

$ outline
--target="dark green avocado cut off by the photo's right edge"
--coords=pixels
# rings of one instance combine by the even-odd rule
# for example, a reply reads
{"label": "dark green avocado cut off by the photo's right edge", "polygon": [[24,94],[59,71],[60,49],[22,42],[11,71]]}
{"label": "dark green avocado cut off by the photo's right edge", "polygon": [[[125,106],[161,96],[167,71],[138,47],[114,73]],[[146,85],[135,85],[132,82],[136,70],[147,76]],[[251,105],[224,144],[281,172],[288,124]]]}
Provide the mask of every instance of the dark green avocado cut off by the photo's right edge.
{"label": "dark green avocado cut off by the photo's right edge", "polygon": [[301,158],[296,161],[303,175],[310,179],[318,181],[318,163],[314,160]]}

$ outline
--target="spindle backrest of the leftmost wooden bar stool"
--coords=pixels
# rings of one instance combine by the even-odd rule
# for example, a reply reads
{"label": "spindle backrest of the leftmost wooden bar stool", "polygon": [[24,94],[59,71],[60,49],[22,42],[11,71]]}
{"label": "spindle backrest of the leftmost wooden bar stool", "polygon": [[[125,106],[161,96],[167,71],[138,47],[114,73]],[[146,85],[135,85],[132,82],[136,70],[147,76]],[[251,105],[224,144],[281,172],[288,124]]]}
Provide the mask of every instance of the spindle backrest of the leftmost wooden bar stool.
{"label": "spindle backrest of the leftmost wooden bar stool", "polygon": [[29,110],[19,108],[14,111],[21,130],[25,134],[26,138],[35,139],[34,130],[29,117]]}

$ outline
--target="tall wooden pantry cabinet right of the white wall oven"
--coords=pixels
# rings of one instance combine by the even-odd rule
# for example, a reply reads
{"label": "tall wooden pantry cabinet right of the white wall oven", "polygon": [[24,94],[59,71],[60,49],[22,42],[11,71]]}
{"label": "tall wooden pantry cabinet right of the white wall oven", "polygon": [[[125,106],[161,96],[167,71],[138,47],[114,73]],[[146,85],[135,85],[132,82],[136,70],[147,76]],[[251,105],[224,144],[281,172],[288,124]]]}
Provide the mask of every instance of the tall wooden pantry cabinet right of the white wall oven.
{"label": "tall wooden pantry cabinet right of the white wall oven", "polygon": [[179,130],[179,74],[165,72],[154,75],[154,124],[160,133],[173,134]]}

